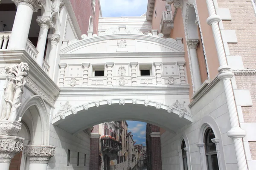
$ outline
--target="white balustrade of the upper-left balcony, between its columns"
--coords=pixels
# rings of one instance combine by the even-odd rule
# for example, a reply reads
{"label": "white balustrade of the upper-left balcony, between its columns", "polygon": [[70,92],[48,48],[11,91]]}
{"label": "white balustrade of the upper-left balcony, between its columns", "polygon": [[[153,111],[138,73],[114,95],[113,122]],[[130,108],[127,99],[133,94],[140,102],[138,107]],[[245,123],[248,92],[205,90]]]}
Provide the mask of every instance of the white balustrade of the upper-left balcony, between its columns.
{"label": "white balustrade of the upper-left balcony, between its columns", "polygon": [[[7,50],[9,39],[11,37],[12,32],[0,32],[0,51]],[[32,57],[35,61],[38,57],[38,50],[35,48],[35,46],[32,44],[32,42],[28,39],[26,42],[25,51],[29,54],[30,57]],[[44,60],[42,69],[45,73],[49,73],[49,65]]]}

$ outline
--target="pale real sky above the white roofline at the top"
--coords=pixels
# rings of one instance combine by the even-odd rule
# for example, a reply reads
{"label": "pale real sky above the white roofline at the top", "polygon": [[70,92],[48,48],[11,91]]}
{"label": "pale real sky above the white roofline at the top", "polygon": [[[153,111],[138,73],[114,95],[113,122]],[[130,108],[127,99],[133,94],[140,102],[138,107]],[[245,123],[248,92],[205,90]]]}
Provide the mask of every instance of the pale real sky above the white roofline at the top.
{"label": "pale real sky above the white roofline at the top", "polygon": [[102,17],[138,17],[147,11],[148,0],[100,0]]}

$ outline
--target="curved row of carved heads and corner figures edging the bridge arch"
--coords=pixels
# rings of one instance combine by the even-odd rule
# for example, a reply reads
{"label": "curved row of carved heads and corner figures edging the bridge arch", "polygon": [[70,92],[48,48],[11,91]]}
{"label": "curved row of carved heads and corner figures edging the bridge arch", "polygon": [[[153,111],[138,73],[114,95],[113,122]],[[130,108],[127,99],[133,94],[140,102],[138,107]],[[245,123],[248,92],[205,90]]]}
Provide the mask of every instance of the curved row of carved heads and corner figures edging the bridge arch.
{"label": "curved row of carved heads and corner figures edging the bridge arch", "polygon": [[[117,101],[118,100],[118,101]],[[128,102],[126,101],[128,100]],[[84,109],[84,111],[88,111],[89,110],[89,107],[99,107],[100,106],[100,103],[105,103],[105,105],[112,105],[113,102],[114,103],[118,103],[119,105],[125,105],[125,102],[126,103],[131,103],[133,105],[136,105],[138,104],[138,100],[137,99],[124,99],[124,98],[120,98],[120,99],[107,99],[105,101],[96,101],[96,102],[90,102],[90,103],[87,103],[87,104],[83,104],[81,106],[78,106],[78,107],[74,107],[72,109],[71,108],[71,105],[69,104],[69,102],[67,101],[66,103],[64,104],[61,104],[62,105],[62,109],[60,109],[57,113],[57,115],[60,116],[61,119],[65,119],[66,118],[66,112],[69,110],[72,114],[76,114],[77,113],[77,110],[79,110],[78,108],[79,107],[82,107]],[[148,107],[150,101],[149,100],[140,100],[139,99],[139,102],[143,102],[143,104],[145,105],[145,107]],[[152,102],[152,103],[155,103],[155,102]],[[165,107],[167,107],[167,112],[168,113],[172,113],[174,111],[174,109],[176,109],[176,113],[178,113],[179,117],[180,118],[183,118],[185,116],[186,113],[189,114],[189,112],[186,110],[186,108],[184,107],[184,104],[186,102],[183,101],[182,103],[180,103],[178,100],[176,100],[175,103],[172,104],[172,106],[166,106],[166,105],[162,105],[162,103],[160,102],[157,102],[155,103],[155,108],[156,109],[165,109]],[[152,105],[151,105],[152,106]],[[162,107],[163,106],[163,107]]]}

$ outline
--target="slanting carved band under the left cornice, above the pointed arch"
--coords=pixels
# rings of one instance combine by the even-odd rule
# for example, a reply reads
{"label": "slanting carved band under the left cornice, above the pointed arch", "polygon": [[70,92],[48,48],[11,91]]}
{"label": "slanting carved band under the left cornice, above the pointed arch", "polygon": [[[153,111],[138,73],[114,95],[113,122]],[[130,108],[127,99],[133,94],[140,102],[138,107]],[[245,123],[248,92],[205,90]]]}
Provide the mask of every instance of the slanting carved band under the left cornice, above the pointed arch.
{"label": "slanting carved band under the left cornice, above the pointed arch", "polygon": [[26,77],[25,79],[27,82],[25,87],[28,86],[29,88],[33,89],[36,94],[42,96],[42,98],[45,99],[49,104],[54,105],[55,99],[53,97],[49,96],[49,94],[41,89],[34,81],[32,81],[31,78]]}

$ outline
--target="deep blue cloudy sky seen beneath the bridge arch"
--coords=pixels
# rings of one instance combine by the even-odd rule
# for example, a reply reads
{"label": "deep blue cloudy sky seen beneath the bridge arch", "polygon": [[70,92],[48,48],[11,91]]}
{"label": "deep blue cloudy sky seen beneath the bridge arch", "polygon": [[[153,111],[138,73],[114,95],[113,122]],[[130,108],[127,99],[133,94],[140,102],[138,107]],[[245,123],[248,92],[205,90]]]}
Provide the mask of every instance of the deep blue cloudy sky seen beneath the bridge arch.
{"label": "deep blue cloudy sky seen beneath the bridge arch", "polygon": [[146,125],[145,122],[126,121],[128,123],[128,132],[132,132],[136,144],[146,145]]}

